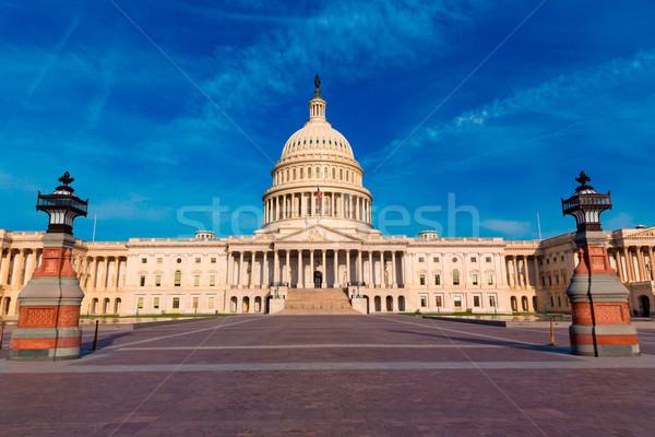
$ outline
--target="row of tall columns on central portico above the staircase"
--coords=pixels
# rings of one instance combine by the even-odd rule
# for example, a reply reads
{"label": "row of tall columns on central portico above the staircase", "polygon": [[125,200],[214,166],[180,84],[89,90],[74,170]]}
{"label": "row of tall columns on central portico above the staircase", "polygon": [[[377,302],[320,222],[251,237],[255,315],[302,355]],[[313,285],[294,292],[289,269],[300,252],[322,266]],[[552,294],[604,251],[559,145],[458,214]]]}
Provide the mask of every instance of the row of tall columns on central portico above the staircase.
{"label": "row of tall columns on central portico above the staircase", "polygon": [[[404,258],[400,257],[403,262]],[[305,249],[230,250],[227,257],[227,285],[236,288],[289,286],[312,288],[398,286],[395,250]],[[318,277],[320,281],[314,282]]]}

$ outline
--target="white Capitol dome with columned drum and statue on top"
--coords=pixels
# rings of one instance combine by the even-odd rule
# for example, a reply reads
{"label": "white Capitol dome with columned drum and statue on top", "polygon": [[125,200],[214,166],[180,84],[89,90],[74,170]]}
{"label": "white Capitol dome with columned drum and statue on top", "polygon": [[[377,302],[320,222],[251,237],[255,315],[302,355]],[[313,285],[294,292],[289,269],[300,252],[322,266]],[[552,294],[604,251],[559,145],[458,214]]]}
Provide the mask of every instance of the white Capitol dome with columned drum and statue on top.
{"label": "white Capitol dome with columned drum and statue on top", "polygon": [[264,226],[258,234],[284,235],[318,224],[370,235],[372,196],[348,141],[325,118],[326,103],[314,81],[309,121],[286,142],[263,196]]}

